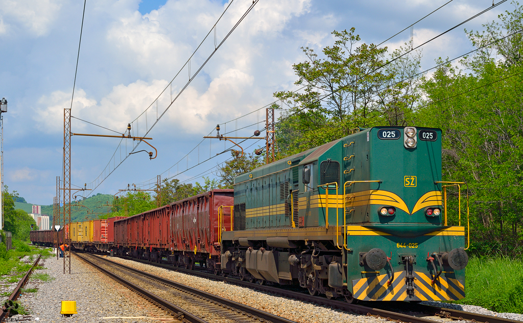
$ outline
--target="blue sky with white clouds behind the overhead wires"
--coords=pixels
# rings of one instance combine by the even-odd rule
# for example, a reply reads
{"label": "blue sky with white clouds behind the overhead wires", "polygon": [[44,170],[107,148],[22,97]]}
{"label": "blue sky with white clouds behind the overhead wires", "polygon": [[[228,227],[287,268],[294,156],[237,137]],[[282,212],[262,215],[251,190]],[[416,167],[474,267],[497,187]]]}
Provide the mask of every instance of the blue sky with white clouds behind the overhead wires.
{"label": "blue sky with white clouds behind the overhead wires", "polygon": [[[158,149],[158,156],[149,160],[145,153],[133,154],[107,176],[126,156],[126,143],[119,146],[118,139],[73,136],[72,182],[95,188],[99,184],[96,178],[102,174],[100,178],[106,179],[94,193],[114,194],[128,183],[155,183],[158,174],[171,177],[216,156],[224,150],[223,142],[207,140],[183,159],[217,123],[267,105],[275,91],[295,89],[292,64],[304,60],[300,47],[320,50],[333,44],[333,30],[350,27],[356,28],[362,42],[379,43],[445,2],[260,0],[150,129],[156,120],[156,97],[229,2],[88,0],[72,114],[119,133],[134,120],[136,133],[143,135],[150,130],[150,143]],[[251,3],[234,0],[217,25],[218,42]],[[490,5],[490,0],[454,0],[415,25],[414,45]],[[4,183],[31,203],[51,204],[55,177],[61,175],[63,109],[71,106],[82,9],[83,2],[79,1],[0,0],[0,98],[9,102],[4,115]],[[472,45],[463,28],[481,30],[482,24],[512,9],[505,3],[427,44],[422,68],[433,66],[437,57],[468,52]],[[212,36],[191,60],[191,74],[213,51]],[[386,45],[394,49],[408,40],[410,30]],[[186,67],[175,79],[174,95],[188,77]],[[170,91],[168,87],[158,100],[159,114],[169,106]],[[150,105],[147,120],[145,114],[139,117]],[[263,120],[264,113],[262,110],[259,115],[252,113],[228,122],[222,130],[256,123]],[[256,128],[247,127],[237,135],[251,135]],[[72,131],[115,134],[77,119],[73,119]],[[248,149],[252,151],[254,142],[244,147],[251,144],[254,146]],[[132,141],[127,142],[128,153],[132,145]],[[144,144],[141,149],[151,150]],[[198,174],[206,174],[228,157],[227,153],[213,157],[176,178],[201,182]],[[176,165],[180,159],[183,161]]]}

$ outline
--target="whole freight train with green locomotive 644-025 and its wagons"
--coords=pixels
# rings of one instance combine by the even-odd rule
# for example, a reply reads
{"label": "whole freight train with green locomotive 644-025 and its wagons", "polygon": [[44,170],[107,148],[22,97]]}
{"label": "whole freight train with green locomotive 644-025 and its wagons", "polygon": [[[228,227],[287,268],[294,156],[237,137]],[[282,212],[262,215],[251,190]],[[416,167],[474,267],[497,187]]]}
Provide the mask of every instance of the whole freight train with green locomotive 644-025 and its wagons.
{"label": "whole freight train with green locomotive 644-025 and its wagons", "polygon": [[115,219],[113,241],[72,244],[347,302],[456,300],[468,256],[442,209],[448,185],[440,129],[358,128],[240,175],[234,190]]}

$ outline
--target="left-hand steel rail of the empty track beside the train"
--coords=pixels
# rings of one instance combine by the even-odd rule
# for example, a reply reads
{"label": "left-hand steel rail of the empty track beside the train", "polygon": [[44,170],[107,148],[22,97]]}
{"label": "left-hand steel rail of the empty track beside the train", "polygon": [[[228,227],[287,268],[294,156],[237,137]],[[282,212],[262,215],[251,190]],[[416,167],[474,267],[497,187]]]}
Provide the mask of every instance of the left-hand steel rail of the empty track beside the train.
{"label": "left-hand steel rail of the empty track beside the train", "polygon": [[121,278],[120,276],[116,275],[116,274],[113,274],[111,273],[110,271],[104,269],[104,268],[101,268],[100,266],[98,266],[96,263],[82,257],[82,256],[79,256],[76,252],[73,252],[73,254],[82,259],[83,261],[87,262],[88,264],[90,264],[91,266],[95,267],[96,269],[98,269],[99,271],[105,273],[106,275],[110,276],[112,279],[116,280],[117,282],[123,284],[123,285],[126,285],[129,289],[143,295],[145,298],[147,299],[151,299],[151,301],[153,303],[156,303],[156,304],[159,304],[160,306],[166,308],[167,310],[169,310],[170,312],[173,312],[173,313],[177,313],[178,316],[176,316],[175,314],[175,319],[181,319],[182,318],[182,315],[183,315],[183,320],[184,322],[191,322],[191,323],[208,323],[206,320],[203,320],[195,315],[192,315],[191,313],[187,312],[185,309],[183,308],[180,308],[176,305],[174,305],[173,303],[170,303],[168,301],[166,301],[165,299],[161,298],[161,297],[158,297],[156,296],[155,294],[152,294],[150,293],[149,291],[146,291],[144,290],[142,287],[138,286],[138,285],[135,285],[133,283],[131,283],[130,281],[126,280],[126,279],[123,279]]}

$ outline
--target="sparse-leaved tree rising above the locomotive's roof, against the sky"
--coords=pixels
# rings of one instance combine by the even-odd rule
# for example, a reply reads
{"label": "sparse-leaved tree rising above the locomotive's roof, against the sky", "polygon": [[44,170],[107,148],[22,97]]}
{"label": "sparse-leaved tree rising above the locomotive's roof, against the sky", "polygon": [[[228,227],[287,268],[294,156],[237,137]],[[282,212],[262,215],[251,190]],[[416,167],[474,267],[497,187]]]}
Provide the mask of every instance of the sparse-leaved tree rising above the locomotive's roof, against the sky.
{"label": "sparse-leaved tree rising above the locomotive's roof, against the sky", "polygon": [[[359,44],[355,28],[333,31],[336,41],[320,57],[302,48],[306,61],[294,64],[303,90],[275,93],[289,112],[279,119],[278,144],[291,155],[349,134],[371,122],[403,125],[405,111],[419,98],[420,54],[408,48],[388,54],[387,48]],[[390,59],[387,59],[387,57]],[[410,80],[405,78],[412,77]]]}

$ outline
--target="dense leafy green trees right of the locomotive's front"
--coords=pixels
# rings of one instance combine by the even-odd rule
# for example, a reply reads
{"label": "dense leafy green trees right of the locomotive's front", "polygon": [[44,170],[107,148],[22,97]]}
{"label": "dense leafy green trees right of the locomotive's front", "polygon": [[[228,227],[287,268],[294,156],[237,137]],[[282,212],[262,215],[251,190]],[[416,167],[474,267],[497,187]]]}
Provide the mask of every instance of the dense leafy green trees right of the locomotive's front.
{"label": "dense leafy green trees right of the locomotive's front", "polygon": [[[446,64],[426,80],[416,124],[442,129],[443,178],[469,184],[473,250],[515,255],[523,253],[523,66],[477,56],[463,62],[472,73]],[[451,193],[457,224],[457,191]]]}

